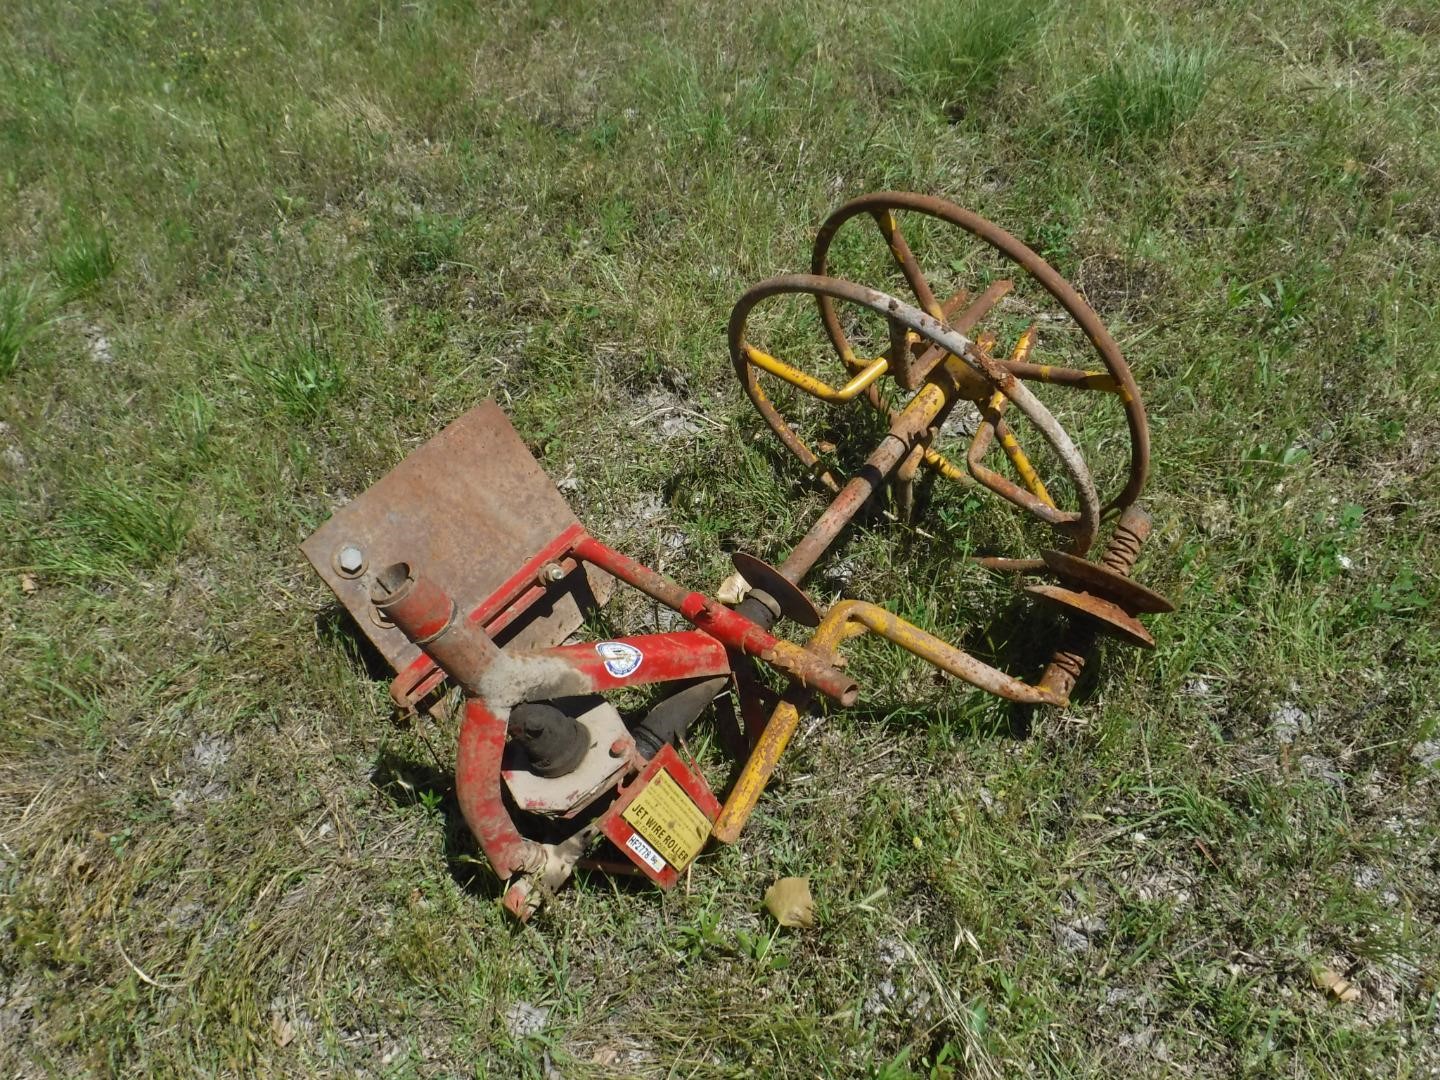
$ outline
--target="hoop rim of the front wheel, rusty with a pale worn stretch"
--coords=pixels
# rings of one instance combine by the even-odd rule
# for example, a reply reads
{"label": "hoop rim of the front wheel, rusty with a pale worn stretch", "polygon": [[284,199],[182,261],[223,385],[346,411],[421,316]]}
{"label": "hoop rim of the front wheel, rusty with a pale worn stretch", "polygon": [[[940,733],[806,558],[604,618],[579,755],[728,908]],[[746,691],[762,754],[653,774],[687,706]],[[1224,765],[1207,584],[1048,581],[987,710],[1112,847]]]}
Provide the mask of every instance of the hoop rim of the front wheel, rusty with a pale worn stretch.
{"label": "hoop rim of the front wheel, rusty with a pale worn stretch", "polygon": [[1060,426],[1060,422],[1056,420],[1050,410],[1024,383],[1005,372],[998,361],[978,350],[975,343],[965,334],[933,315],[927,315],[868,285],[857,285],[852,281],[822,278],[812,274],[782,274],[746,289],[730,312],[730,363],[734,366],[736,376],[740,379],[740,384],[744,387],[746,396],[749,396],[756,410],[795,456],[811,468],[819,461],[791,425],[786,423],[776,408],[770,405],[770,400],[760,389],[755,369],[746,361],[744,356],[744,327],[750,311],[768,297],[786,294],[811,294],[868,308],[893,324],[899,323],[907,330],[913,330],[924,340],[940,346],[975,369],[991,386],[1004,393],[1025,419],[1035,425],[1037,431],[1040,431],[1041,436],[1056,452],[1061,467],[1070,475],[1070,481],[1080,500],[1080,513],[1073,520],[1067,516],[1063,523],[1066,533],[1076,553],[1083,553],[1090,547],[1100,526],[1100,498],[1096,494],[1094,481],[1090,478],[1090,469],[1086,467],[1084,458],[1080,456],[1080,451],[1070,439],[1070,435],[1066,433],[1066,429]]}

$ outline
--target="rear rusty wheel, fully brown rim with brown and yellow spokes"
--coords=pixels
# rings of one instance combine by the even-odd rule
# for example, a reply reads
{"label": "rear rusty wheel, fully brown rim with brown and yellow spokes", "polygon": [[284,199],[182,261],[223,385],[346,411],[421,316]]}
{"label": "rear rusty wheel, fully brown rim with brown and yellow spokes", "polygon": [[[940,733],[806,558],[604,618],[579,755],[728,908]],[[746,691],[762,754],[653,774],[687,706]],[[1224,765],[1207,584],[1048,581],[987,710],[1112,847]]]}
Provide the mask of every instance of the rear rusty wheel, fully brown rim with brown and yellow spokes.
{"label": "rear rusty wheel, fully brown rim with brown and yellow spokes", "polygon": [[[1031,331],[1021,336],[1021,340],[1009,359],[996,357],[995,363],[1022,382],[1041,382],[1067,386],[1077,390],[1100,390],[1115,393],[1120,399],[1120,405],[1125,409],[1126,423],[1129,426],[1129,468],[1123,487],[1103,504],[1102,514],[1109,516],[1135,503],[1140,490],[1145,487],[1151,458],[1149,426],[1146,423],[1145,405],[1140,400],[1140,392],[1135,383],[1135,377],[1130,374],[1129,366],[1120,356],[1120,350],[1116,346],[1115,338],[1110,337],[1110,333],[1104,328],[1104,324],[1100,323],[1099,315],[1094,314],[1090,305],[1080,297],[1079,292],[1076,292],[1070,282],[1056,272],[1048,262],[1008,232],[979,215],[971,213],[969,210],[943,199],[914,194],[910,192],[876,192],[852,199],[825,220],[821,226],[819,235],[815,238],[815,251],[811,258],[811,274],[827,275],[829,272],[828,258],[831,243],[834,242],[841,226],[852,217],[868,216],[880,228],[880,235],[890,249],[891,258],[899,265],[900,272],[904,275],[904,279],[909,284],[910,291],[914,294],[919,307],[930,317],[940,320],[960,333],[969,333],[985,317],[985,314],[999,302],[1001,297],[1009,289],[1009,282],[995,282],[975,298],[971,298],[963,292],[956,294],[946,301],[936,298],[929,279],[920,269],[920,265],[916,261],[914,253],[910,251],[910,246],[900,229],[897,215],[901,212],[939,219],[989,245],[989,248],[998,252],[1004,259],[1014,262],[1024,269],[1030,278],[1032,278],[1056,300],[1057,304],[1060,304],[1066,314],[1084,333],[1090,346],[1104,364],[1104,372],[1102,373],[1030,363],[1030,350],[1034,346],[1034,336]],[[821,320],[824,321],[825,333],[829,337],[831,344],[835,347],[835,351],[840,354],[840,359],[847,364],[847,367],[855,370],[861,361],[855,357],[855,353],[851,348],[851,343],[845,336],[841,320],[835,312],[832,298],[824,294],[816,294],[816,301],[819,304]],[[896,370],[893,370],[896,382],[899,382],[903,389],[913,390],[923,380],[926,370],[940,359],[943,357],[935,354],[935,350],[927,350],[927,354],[910,357],[907,363],[897,364]],[[867,395],[867,400],[870,400],[874,408],[883,408],[881,400],[876,393]],[[1050,500],[1044,484],[1040,481],[1035,471],[1030,467],[1024,452],[1020,449],[1020,444],[1014,433],[1009,432],[1001,416],[1007,400],[1014,399],[1005,396],[1005,399],[991,397],[989,400],[975,402],[981,408],[984,422],[976,432],[976,438],[972,442],[966,458],[968,471],[976,481],[995,494],[1009,500],[1035,517],[1050,520],[1053,523],[1053,516],[1047,513],[1047,510],[1051,510],[1054,504]],[[772,426],[775,425],[772,423]],[[1012,484],[981,464],[981,458],[985,455],[985,451],[989,449],[989,445],[996,438],[1015,467],[1015,471],[1020,474],[1024,487]],[[943,458],[935,461],[937,456],[939,455],[927,456],[926,464],[949,475],[959,472],[959,469],[949,465],[949,462]],[[1077,553],[1083,553],[1083,549]]]}

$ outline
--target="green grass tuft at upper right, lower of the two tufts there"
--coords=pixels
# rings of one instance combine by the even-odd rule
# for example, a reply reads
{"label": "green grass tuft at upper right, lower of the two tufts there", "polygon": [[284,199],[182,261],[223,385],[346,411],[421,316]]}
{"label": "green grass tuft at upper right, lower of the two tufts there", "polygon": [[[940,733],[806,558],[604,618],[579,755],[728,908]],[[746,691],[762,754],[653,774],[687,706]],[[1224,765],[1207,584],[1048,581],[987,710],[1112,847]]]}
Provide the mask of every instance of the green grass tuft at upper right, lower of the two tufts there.
{"label": "green grass tuft at upper right, lower of the two tufts there", "polygon": [[1200,109],[1214,72],[1207,48],[1166,39],[1126,50],[1077,92],[1074,127],[1092,145],[1162,143]]}

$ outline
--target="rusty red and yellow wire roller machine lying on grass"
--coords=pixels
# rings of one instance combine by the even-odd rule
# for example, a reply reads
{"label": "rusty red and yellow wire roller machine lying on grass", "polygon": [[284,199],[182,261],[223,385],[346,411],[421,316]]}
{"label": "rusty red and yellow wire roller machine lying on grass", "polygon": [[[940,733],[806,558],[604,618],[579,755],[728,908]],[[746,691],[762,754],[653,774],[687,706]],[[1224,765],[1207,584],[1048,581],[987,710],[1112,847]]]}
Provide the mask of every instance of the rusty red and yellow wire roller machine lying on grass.
{"label": "rusty red and yellow wire roller machine lying on grass", "polygon": [[[1104,370],[1032,363],[1034,327],[1021,336],[1008,359],[996,357],[989,334],[971,334],[1001,302],[1011,282],[992,282],[973,298],[956,292],[942,302],[901,232],[897,212],[943,219],[1017,262],[1076,320],[1100,354]],[[878,225],[919,307],[827,275],[835,233],[857,216],[870,216]],[[534,910],[546,888],[569,876],[596,835],[624,837],[613,811],[635,798],[648,776],[658,775],[657,762],[664,756],[647,757],[634,737],[616,739],[608,747],[615,757],[613,768],[588,759],[598,769],[588,776],[600,778],[600,788],[593,792],[596,798],[611,783],[605,778],[615,778],[619,798],[611,809],[579,825],[563,841],[544,844],[527,838],[507,805],[503,773],[507,721],[511,708],[521,703],[675,681],[684,684],[675,698],[691,696],[703,707],[714,693],[733,685],[752,746],[723,806],[710,796],[704,779],[687,773],[674,752],[664,747],[670,753],[665,769],[675,770],[697,805],[707,806],[706,815],[714,821],[713,838],[729,842],[743,829],[812,697],[821,693],[842,706],[857,700],[860,684],[845,671],[841,655],[847,641],[874,634],[986,693],[1027,706],[1063,706],[1093,651],[1096,635],[1113,634],[1142,647],[1152,644],[1136,615],[1169,609],[1162,596],[1129,580],[1151,531],[1148,516],[1135,503],[1149,468],[1143,405],[1115,341],[1058,274],[1009,233],[976,215],[943,200],[894,192],[864,196],[831,215],[816,239],[812,269],[812,274],[770,278],[747,289],[730,315],[729,347],[740,383],[760,416],[835,497],[778,567],[736,554],[736,567],[752,589],[737,606],[721,605],[681,586],[586,531],[492,402],[471,410],[419,448],[304,544],[315,569],[397,671],[390,690],[399,707],[413,710],[446,680],[464,690],[456,796],[481,850],[505,883],[507,909],[520,917]],[[755,308],[785,297],[808,297],[819,305],[831,346],[848,372],[842,384],[832,386],[746,338]],[[868,360],[854,354],[837,304],[858,305],[886,320],[890,344],[884,354]],[[769,400],[760,383],[762,373],[831,405],[864,400],[888,419],[888,431],[861,468],[841,482]],[[907,395],[899,408],[891,408],[881,395],[884,379],[891,379]],[[1117,495],[1100,501],[1079,448],[1027,387],[1030,382],[1120,397],[1130,433],[1130,472]],[[965,469],[933,446],[948,415],[962,400],[975,402],[981,409]],[[1056,505],[1007,423],[1009,408],[1050,445],[1070,478],[1077,510]],[[995,442],[1020,484],[984,464]],[[455,462],[462,462],[464,468],[454,468]],[[884,487],[893,488],[897,507],[909,514],[914,477],[922,465],[948,478],[973,480],[1051,524],[1066,539],[1068,552],[1045,550],[1040,559],[979,560],[994,570],[1048,573],[1060,582],[1030,588],[1070,616],[1061,645],[1037,683],[1028,684],[985,664],[876,603],[848,599],[821,613],[801,590],[818,560]],[[480,475],[472,475],[477,471]],[[458,494],[461,490],[464,497]],[[395,511],[396,505],[400,513]],[[369,573],[360,573],[346,564],[354,560],[340,559],[337,543],[351,536],[364,537],[374,544],[374,552],[390,556],[408,550],[406,537],[413,539],[416,530],[435,526],[441,508],[455,514],[456,523],[442,527],[444,536],[429,546],[420,543],[418,562],[402,556],[379,570],[370,567]],[[1102,520],[1113,511],[1119,513],[1119,520],[1102,560],[1086,562],[1083,556],[1096,543]],[[491,559],[487,550],[481,560],[485,595],[478,602],[474,582],[456,575],[456,566],[472,559],[468,553],[477,550],[474,537],[465,530],[487,537],[488,546],[498,552]],[[442,575],[429,573],[426,552],[436,553]],[[602,642],[567,641],[580,625],[580,596],[589,595],[600,603],[615,582],[651,596],[693,628]],[[464,609],[458,598],[467,598]],[[366,612],[376,616],[373,625],[363,622]],[[814,626],[804,645],[770,632],[782,615]],[[616,668],[608,660],[615,651],[639,660]],[[756,664],[773,668],[789,681],[773,708],[775,697],[756,678]],[[769,710],[768,720],[765,710]],[[588,779],[585,786],[590,792],[595,783]],[[569,799],[564,795],[562,801]],[[582,808],[573,808],[566,816]],[[662,886],[674,884],[674,873],[647,873]]]}

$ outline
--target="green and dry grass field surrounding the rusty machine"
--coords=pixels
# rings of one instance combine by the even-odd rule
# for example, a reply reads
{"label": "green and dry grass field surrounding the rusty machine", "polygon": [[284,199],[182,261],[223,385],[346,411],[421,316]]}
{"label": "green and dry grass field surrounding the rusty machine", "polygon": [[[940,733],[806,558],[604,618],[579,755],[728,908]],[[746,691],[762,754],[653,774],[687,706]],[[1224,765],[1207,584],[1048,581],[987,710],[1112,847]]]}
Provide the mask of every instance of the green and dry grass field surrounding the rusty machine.
{"label": "green and dry grass field surrounding the rusty machine", "polygon": [[[1440,1073],[1426,0],[36,0],[0,45],[0,1073]],[[778,560],[822,498],[724,323],[874,189],[1110,325],[1181,611],[1022,733],[857,649],[742,842],[516,926],[297,544],[494,396],[602,539]],[[998,648],[962,556],[1037,536],[937,488],[812,595]]]}

